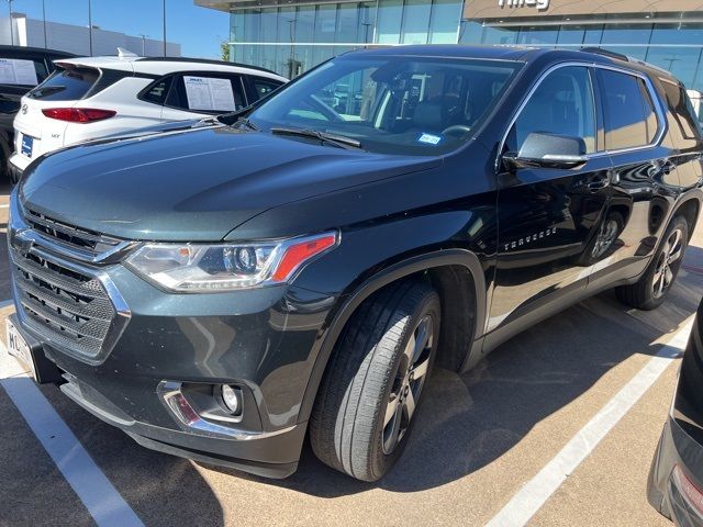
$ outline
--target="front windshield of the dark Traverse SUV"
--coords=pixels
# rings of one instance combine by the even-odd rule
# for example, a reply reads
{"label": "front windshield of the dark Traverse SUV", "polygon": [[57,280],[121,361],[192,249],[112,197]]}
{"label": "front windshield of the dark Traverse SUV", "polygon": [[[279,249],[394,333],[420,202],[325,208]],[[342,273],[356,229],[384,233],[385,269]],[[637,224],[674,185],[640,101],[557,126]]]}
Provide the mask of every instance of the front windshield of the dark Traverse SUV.
{"label": "front windshield of the dark Traverse SUV", "polygon": [[436,57],[335,58],[283,89],[249,119],[357,139],[369,152],[437,155],[471,136],[520,63]]}

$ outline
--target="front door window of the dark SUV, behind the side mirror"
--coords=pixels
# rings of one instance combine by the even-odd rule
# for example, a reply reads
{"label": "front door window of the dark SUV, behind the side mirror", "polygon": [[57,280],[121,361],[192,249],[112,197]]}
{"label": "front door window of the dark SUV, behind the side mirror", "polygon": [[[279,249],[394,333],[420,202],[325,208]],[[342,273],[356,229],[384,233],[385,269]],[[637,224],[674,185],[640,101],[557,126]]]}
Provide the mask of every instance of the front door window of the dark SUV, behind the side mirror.
{"label": "front door window of the dark SUV, behind the side mirror", "polygon": [[588,68],[560,68],[542,81],[511,128],[507,149],[520,152],[532,133],[581,138],[585,154],[595,152],[595,105]]}

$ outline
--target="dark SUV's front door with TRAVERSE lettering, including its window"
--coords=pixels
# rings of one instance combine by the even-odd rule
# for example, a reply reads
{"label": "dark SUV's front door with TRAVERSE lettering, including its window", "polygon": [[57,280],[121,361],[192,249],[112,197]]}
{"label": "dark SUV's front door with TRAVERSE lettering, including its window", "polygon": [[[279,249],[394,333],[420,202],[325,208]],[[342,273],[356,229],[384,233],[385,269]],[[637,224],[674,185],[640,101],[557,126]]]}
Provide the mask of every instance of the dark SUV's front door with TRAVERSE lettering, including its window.
{"label": "dark SUV's front door with TRAVERSE lettering, including its window", "polygon": [[592,71],[560,67],[520,111],[503,153],[520,153],[529,134],[582,141],[588,159],[574,168],[499,168],[499,251],[489,330],[531,312],[558,311],[583,292],[592,240],[607,201],[611,161],[599,154]]}

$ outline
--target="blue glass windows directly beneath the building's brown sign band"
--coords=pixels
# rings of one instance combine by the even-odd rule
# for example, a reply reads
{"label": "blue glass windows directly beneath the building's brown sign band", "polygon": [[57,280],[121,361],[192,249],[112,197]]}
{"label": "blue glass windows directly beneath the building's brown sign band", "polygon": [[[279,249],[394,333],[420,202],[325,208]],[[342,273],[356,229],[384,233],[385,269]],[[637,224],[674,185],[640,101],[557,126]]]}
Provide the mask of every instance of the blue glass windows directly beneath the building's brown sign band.
{"label": "blue glass windows directly beneath the building's brown sign band", "polygon": [[620,19],[571,20],[556,24],[554,19],[545,18],[510,25],[499,21],[465,21],[459,42],[566,49],[599,46],[667,69],[687,88],[703,91],[703,22],[687,22],[685,16],[676,21],[628,16],[621,22]]}

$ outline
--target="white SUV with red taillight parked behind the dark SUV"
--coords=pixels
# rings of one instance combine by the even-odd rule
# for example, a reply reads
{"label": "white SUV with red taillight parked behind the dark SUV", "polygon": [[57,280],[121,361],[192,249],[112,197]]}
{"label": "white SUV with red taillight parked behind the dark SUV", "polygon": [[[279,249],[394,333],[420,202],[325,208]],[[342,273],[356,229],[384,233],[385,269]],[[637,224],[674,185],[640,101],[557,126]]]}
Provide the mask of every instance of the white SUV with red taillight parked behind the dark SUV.
{"label": "white SUV with red taillight parked behind the dark SUV", "polygon": [[115,57],[55,60],[14,119],[13,180],[65,146],[166,121],[239,110],[287,82],[272,71],[217,60]]}

